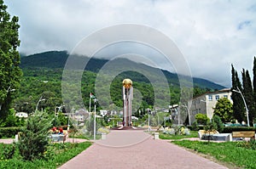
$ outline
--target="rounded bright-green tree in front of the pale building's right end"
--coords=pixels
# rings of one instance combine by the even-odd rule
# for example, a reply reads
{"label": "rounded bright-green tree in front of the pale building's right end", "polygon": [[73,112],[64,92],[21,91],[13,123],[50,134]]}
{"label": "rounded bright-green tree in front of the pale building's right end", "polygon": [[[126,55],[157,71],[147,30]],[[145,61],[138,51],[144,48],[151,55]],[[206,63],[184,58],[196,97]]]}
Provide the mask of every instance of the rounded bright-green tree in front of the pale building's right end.
{"label": "rounded bright-green tree in front of the pale building's right end", "polygon": [[233,119],[233,105],[227,98],[218,99],[213,110],[213,114],[218,115],[224,123],[230,122]]}

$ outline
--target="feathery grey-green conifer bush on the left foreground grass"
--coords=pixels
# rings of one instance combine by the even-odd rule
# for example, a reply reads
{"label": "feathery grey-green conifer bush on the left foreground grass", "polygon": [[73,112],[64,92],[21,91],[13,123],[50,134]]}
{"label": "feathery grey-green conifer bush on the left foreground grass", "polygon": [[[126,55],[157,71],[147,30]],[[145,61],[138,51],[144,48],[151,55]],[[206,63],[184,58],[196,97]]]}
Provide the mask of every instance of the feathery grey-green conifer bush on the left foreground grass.
{"label": "feathery grey-green conifer bush on the left foreground grass", "polygon": [[33,161],[43,158],[47,150],[48,134],[51,127],[51,120],[44,112],[37,111],[29,116],[26,127],[20,132],[18,149],[25,161]]}

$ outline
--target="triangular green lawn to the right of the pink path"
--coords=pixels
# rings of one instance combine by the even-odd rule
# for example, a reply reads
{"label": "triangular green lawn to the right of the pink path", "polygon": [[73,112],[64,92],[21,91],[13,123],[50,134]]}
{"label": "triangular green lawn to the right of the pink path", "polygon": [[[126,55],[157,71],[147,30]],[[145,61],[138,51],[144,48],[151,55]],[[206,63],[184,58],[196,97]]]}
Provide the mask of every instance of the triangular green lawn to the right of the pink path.
{"label": "triangular green lawn to the right of the pink path", "polygon": [[241,142],[207,143],[200,141],[172,141],[179,146],[211,155],[218,161],[242,168],[256,168],[256,150],[241,147]]}

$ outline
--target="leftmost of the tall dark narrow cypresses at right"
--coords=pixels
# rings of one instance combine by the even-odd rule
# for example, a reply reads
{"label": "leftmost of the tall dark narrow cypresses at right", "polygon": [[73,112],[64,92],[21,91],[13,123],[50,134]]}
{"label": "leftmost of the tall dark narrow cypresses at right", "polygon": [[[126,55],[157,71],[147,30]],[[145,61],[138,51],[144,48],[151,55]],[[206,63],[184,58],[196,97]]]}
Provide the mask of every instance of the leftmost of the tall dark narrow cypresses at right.
{"label": "leftmost of the tall dark narrow cypresses at right", "polygon": [[237,71],[234,66],[231,65],[231,74],[232,74],[232,87],[231,87],[231,99],[233,100],[233,116],[234,118],[241,123],[241,121],[245,118],[245,107],[241,98],[241,94],[237,92],[233,92],[233,90],[241,89],[241,82],[239,80]]}

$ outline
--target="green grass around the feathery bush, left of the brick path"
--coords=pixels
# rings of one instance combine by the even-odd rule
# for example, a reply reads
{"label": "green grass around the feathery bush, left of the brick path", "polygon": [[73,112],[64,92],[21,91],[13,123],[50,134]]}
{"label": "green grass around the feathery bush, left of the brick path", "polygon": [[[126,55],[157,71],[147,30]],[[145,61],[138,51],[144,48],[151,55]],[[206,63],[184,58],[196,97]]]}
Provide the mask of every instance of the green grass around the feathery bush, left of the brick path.
{"label": "green grass around the feathery bush, left of the brick path", "polygon": [[48,151],[46,151],[44,154],[46,159],[36,161],[23,161],[18,154],[17,149],[12,159],[5,159],[3,150],[11,147],[12,145],[13,144],[0,144],[0,168],[56,168],[69,161],[74,156],[79,155],[79,153],[81,153],[84,149],[90,147],[91,143],[49,144]]}

